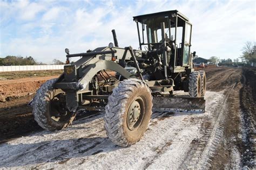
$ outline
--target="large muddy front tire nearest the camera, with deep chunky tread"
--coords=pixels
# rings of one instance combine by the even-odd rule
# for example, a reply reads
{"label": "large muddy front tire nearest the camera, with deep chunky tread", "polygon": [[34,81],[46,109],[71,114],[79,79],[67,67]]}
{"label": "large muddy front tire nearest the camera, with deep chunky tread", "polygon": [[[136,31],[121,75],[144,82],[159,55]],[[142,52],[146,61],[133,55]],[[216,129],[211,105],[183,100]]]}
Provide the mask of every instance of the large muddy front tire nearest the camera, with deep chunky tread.
{"label": "large muddy front tire nearest the camera, with deep chunky tread", "polygon": [[118,84],[105,106],[105,129],[109,139],[119,146],[139,141],[149,125],[152,114],[149,86],[138,79]]}

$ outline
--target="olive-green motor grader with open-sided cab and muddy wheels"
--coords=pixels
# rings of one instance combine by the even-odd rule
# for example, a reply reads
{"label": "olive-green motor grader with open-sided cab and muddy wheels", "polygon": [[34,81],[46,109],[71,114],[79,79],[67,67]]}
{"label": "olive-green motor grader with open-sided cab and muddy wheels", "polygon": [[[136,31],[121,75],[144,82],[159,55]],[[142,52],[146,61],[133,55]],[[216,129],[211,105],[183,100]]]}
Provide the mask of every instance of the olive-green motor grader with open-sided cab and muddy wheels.
{"label": "olive-green motor grader with open-sided cab and muddy wheels", "polygon": [[[192,24],[177,10],[133,17],[139,49],[114,44],[66,52],[64,72],[46,81],[32,101],[33,115],[45,130],[69,126],[78,110],[105,111],[105,130],[114,144],[139,141],[152,110],[204,112],[206,76],[194,71]],[[71,57],[80,57],[69,64]],[[114,74],[113,74],[114,72]],[[111,75],[110,75],[111,74]],[[174,95],[183,90],[190,97]]]}

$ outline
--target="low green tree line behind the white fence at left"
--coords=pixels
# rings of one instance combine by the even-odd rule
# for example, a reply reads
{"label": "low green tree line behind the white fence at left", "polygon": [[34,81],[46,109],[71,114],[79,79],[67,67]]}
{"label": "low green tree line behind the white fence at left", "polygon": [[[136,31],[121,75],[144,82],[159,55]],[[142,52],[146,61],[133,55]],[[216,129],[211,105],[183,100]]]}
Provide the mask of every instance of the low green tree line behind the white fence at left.
{"label": "low green tree line behind the white fence at left", "polygon": [[[52,64],[55,65],[63,65],[62,61],[58,59],[53,59]],[[9,66],[9,65],[46,65],[42,62],[36,62],[36,60],[29,56],[29,57],[22,57],[22,56],[6,56],[5,58],[0,58],[0,65]]]}

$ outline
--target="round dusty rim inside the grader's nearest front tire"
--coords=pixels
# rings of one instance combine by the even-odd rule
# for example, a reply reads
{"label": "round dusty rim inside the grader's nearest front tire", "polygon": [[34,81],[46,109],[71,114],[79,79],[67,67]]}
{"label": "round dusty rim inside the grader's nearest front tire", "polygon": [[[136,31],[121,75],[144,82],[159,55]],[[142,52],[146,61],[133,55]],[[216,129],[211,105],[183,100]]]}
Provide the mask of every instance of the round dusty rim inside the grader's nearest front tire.
{"label": "round dusty rim inside the grader's nearest front tire", "polygon": [[134,99],[127,112],[127,127],[136,130],[142,123],[144,117],[144,100],[141,97]]}

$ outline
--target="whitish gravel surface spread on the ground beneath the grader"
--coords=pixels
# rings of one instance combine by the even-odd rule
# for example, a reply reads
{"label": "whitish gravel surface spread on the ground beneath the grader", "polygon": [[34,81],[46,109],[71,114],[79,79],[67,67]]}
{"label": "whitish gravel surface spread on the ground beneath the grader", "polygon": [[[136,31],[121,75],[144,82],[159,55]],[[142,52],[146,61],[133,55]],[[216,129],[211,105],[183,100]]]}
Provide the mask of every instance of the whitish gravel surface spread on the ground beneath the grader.
{"label": "whitish gravel surface spread on the ground beneath the grader", "polygon": [[223,133],[225,110],[219,108],[225,107],[225,96],[207,92],[205,99],[206,113],[153,113],[143,139],[127,148],[107,139],[104,113],[76,120],[62,131],[31,133],[0,144],[0,168],[207,168]]}

